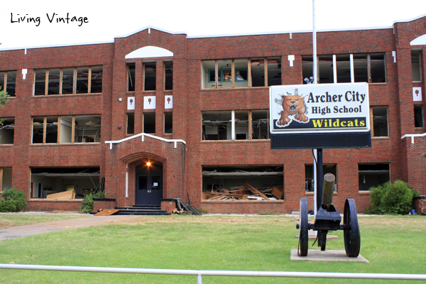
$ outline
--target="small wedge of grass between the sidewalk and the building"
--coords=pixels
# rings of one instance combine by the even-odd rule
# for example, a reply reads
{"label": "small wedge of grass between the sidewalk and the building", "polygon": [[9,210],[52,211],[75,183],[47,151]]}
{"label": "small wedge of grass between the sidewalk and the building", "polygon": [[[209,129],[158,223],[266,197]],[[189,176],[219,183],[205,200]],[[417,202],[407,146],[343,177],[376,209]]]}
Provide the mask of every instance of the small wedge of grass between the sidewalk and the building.
{"label": "small wedge of grass between the sidewalk and the building", "polygon": [[30,224],[38,224],[43,222],[51,222],[63,219],[74,219],[89,216],[88,214],[0,214],[0,229],[9,228],[11,226],[23,226]]}

